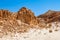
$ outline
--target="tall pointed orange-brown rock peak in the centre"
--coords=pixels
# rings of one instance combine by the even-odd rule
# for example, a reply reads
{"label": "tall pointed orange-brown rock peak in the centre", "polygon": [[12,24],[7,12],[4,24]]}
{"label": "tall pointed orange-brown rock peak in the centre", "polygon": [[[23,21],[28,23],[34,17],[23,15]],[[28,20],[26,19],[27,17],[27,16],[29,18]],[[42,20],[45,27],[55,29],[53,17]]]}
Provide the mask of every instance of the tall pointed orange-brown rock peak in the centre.
{"label": "tall pointed orange-brown rock peak in the centre", "polygon": [[31,10],[23,7],[18,11],[17,19],[27,24],[38,24],[37,18]]}

